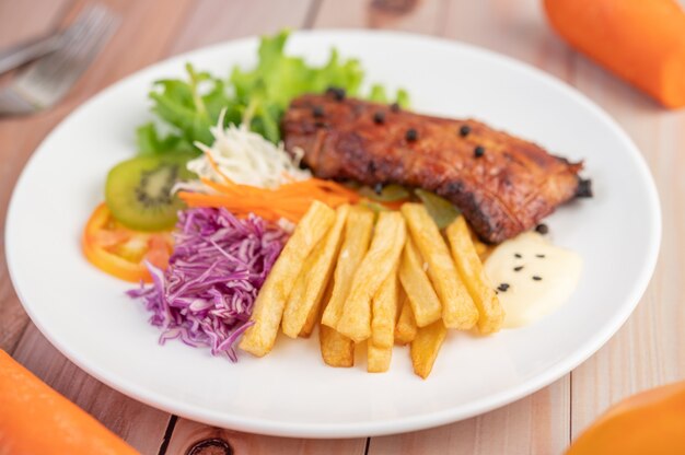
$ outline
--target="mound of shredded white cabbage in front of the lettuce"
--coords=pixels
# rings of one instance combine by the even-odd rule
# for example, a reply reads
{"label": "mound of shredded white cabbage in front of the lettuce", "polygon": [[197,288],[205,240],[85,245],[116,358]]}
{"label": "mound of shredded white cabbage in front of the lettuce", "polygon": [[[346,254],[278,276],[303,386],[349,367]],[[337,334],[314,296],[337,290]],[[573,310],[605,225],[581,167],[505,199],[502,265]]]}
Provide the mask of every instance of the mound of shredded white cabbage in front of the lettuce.
{"label": "mound of shredded white cabbage in front of the lettuce", "polygon": [[188,171],[199,177],[221,183],[221,176],[213,170],[209,155],[222,174],[243,185],[277,188],[288,182],[312,177],[309,171],[299,167],[302,153],[293,160],[282,143],[275,145],[260,135],[249,131],[245,125],[230,125],[223,129],[223,116],[222,112],[219,122],[210,130],[214,137],[211,147],[195,142],[205,154],[189,161]]}

